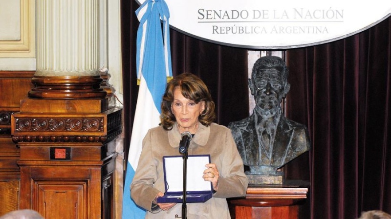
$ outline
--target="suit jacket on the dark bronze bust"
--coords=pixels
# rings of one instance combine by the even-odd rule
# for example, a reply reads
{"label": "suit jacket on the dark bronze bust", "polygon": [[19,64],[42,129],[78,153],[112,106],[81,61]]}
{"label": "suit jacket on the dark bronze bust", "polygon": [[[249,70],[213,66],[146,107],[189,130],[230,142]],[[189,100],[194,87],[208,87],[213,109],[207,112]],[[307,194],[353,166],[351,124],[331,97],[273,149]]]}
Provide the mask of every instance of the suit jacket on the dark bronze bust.
{"label": "suit jacket on the dark bronze bust", "polygon": [[230,122],[228,125],[244,165],[272,166],[277,170],[310,149],[311,143],[306,126],[280,116],[273,152],[269,159],[261,147],[261,136],[257,135],[255,123],[255,115],[253,114],[246,119]]}

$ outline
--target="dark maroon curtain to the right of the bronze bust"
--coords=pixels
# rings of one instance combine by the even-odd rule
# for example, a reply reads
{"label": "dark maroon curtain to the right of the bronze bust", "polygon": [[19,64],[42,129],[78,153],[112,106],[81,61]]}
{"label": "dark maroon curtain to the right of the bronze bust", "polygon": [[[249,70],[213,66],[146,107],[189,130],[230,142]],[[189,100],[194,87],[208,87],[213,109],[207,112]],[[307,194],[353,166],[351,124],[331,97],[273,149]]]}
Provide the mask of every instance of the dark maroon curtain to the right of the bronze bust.
{"label": "dark maroon curtain to the right of the bronze bust", "polygon": [[310,219],[391,213],[391,18],[348,37],[286,51],[287,118],[308,126],[312,150],[287,164],[309,179]]}

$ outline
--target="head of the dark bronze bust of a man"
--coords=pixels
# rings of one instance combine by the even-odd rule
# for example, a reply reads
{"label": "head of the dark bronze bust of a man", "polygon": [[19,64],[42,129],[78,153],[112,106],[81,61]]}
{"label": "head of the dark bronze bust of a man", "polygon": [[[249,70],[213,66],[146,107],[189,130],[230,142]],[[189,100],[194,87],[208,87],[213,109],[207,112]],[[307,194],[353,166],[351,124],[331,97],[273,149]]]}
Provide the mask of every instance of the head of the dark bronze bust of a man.
{"label": "head of the dark bronze bust of a man", "polygon": [[271,117],[281,110],[281,100],[290,88],[288,74],[288,68],[280,57],[265,56],[255,62],[248,85],[256,109],[265,117]]}

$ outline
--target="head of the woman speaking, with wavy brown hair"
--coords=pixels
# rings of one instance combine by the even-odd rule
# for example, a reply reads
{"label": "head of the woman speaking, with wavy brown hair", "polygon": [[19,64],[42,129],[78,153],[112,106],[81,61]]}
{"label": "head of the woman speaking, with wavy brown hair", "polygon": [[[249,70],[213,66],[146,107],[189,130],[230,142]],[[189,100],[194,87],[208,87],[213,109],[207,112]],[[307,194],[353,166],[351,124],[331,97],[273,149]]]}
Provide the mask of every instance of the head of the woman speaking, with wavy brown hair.
{"label": "head of the woman speaking, with wavy brown hair", "polygon": [[170,130],[175,121],[189,128],[197,122],[210,125],[216,119],[215,102],[205,83],[191,73],[183,73],[167,83],[161,103],[160,125]]}

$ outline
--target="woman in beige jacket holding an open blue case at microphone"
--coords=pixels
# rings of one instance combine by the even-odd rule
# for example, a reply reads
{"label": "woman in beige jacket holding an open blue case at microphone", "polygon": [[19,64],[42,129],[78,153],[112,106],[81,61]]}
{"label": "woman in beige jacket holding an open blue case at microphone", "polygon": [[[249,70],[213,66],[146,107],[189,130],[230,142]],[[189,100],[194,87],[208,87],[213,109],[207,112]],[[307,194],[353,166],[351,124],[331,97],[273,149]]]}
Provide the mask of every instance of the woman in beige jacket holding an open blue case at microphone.
{"label": "woman in beige jacket holding an open blue case at microphone", "polygon": [[[243,172],[230,129],[213,123],[215,103],[202,80],[183,73],[167,84],[161,104],[161,123],[148,131],[130,185],[131,198],[147,210],[146,219],[181,216],[181,203],[156,203],[164,194],[163,156],[180,156],[181,133],[190,132],[189,155],[211,156],[203,178],[212,182],[214,195],[201,203],[187,203],[188,219],[229,219],[225,198],[244,197],[248,180]],[[178,174],[182,174],[181,172]]]}

